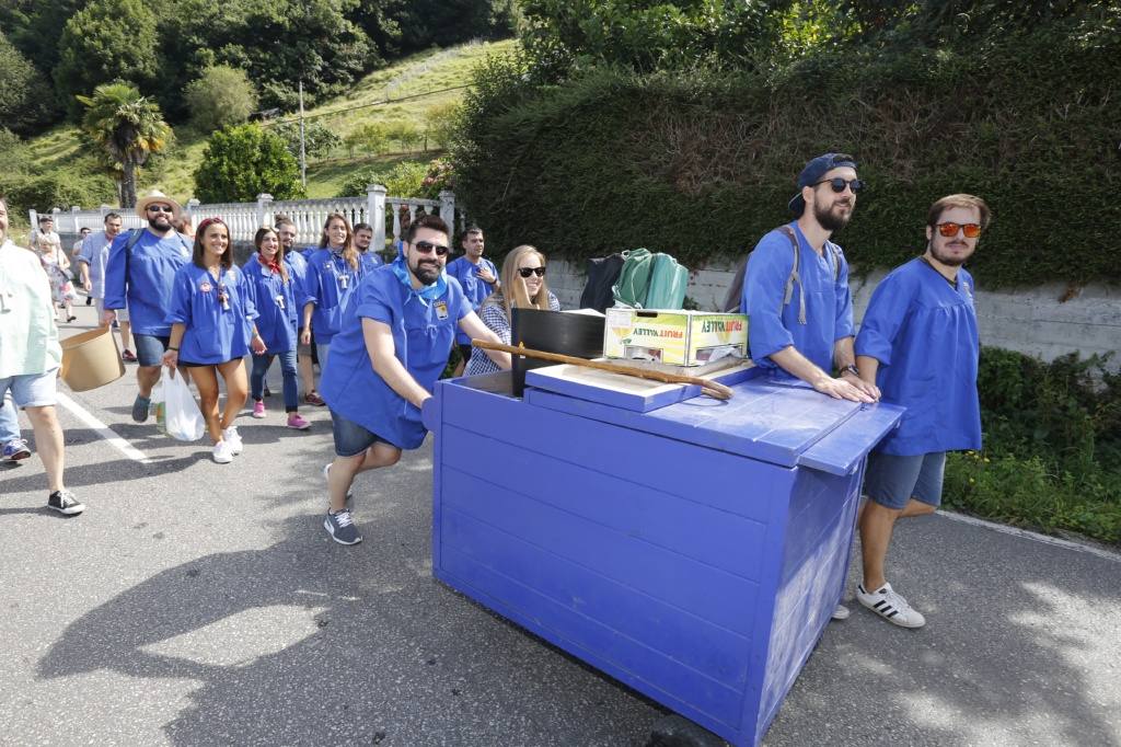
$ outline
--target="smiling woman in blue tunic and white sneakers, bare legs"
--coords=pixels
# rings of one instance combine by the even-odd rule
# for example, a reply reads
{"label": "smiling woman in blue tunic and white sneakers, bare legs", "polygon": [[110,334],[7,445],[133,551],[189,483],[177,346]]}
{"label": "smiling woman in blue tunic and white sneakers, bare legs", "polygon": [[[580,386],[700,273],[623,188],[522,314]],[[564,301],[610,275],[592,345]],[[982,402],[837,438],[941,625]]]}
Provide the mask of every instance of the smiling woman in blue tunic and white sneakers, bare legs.
{"label": "smiling woman in blue tunic and white sneakers, bare legs", "polygon": [[[176,271],[172,325],[164,366],[172,376],[176,366],[186,368],[198,387],[200,408],[214,441],[213,459],[220,464],[241,453],[241,436],[233,419],[245,404],[245,365],[250,349],[265,352],[257,333],[257,310],[245,276],[233,266],[230,229],[222,219],[202,222],[195,234],[192,261]],[[219,417],[217,376],[225,381],[225,411]]]}

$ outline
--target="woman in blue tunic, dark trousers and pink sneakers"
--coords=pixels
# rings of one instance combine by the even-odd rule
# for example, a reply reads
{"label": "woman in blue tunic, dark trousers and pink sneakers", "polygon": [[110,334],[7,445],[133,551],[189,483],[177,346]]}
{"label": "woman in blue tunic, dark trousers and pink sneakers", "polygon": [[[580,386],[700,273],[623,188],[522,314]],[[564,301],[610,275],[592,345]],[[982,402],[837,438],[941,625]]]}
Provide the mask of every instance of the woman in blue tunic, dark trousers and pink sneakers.
{"label": "woman in blue tunic, dark trousers and pink sneakers", "polygon": [[288,414],[288,427],[305,431],[312,424],[299,415],[296,379],[297,297],[303,296],[303,288],[297,289],[297,270],[290,258],[281,252],[280,238],[275,230],[258,229],[253,246],[257,253],[245,261],[241,271],[252,289],[258,314],[257,330],[268,348],[267,353],[253,358],[253,369],[249,375],[253,417],[265,417],[265,375],[272,365],[272,358],[277,357],[284,375],[284,408]]}

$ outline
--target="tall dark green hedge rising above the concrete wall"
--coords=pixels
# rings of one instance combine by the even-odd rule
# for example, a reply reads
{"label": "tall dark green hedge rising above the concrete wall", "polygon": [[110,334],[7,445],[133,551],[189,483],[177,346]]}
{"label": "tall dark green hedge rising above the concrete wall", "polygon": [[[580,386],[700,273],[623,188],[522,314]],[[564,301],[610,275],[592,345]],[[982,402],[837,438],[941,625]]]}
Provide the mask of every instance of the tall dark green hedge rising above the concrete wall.
{"label": "tall dark green hedge rising above the concrete wall", "polygon": [[1115,283],[1119,36],[847,48],[769,76],[601,68],[557,86],[491,61],[454,150],[456,193],[495,248],[645,246],[696,267],[788,220],[803,164],[843,150],[871,185],[837,237],[861,269],[914,256],[929,204],[971,192],[995,216],[971,264],[985,286]]}

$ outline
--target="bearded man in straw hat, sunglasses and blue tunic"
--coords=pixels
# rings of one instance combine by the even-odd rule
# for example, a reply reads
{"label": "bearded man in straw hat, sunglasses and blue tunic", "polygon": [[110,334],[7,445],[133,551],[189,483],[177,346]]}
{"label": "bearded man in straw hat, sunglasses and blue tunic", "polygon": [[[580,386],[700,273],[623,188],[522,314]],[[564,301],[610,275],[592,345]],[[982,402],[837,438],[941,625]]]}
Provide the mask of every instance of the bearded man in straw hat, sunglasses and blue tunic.
{"label": "bearded man in straw hat, sunglasses and blue tunic", "polygon": [[148,419],[151,388],[159,380],[160,360],[172,325],[164,321],[172,302],[175,273],[191,261],[191,242],[175,230],[183,209],[156,190],[137,201],[137,214],[148,225],[113,239],[105,262],[105,311],[102,324],[112,324],[114,312],[129,310],[137,347],[137,393],[132,419]]}

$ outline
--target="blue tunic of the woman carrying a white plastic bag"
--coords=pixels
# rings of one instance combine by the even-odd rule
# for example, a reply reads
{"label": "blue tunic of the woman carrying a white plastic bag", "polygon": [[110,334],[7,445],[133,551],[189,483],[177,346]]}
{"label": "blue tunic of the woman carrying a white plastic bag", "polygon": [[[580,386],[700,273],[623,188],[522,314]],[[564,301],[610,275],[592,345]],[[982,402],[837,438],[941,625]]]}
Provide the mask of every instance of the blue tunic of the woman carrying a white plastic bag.
{"label": "blue tunic of the woman carrying a white plastic bag", "polygon": [[[229,308],[219,301],[219,285],[229,297]],[[165,322],[186,326],[179,343],[179,359],[189,363],[224,363],[249,352],[253,336],[251,320],[257,319],[252,289],[237,267],[221,275],[220,282],[194,262],[175,274],[172,302]]]}

